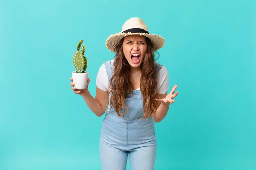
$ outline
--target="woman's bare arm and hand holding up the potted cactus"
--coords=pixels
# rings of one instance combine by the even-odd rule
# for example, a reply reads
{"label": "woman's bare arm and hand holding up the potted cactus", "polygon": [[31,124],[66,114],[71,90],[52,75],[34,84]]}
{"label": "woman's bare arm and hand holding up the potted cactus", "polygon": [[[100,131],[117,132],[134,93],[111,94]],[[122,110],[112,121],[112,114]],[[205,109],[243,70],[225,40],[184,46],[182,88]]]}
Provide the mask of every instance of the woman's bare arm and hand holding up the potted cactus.
{"label": "woman's bare arm and hand holding up the potted cactus", "polygon": [[[72,78],[70,78],[70,80],[73,81]],[[72,90],[74,91],[74,93],[81,95],[90,110],[93,111],[96,116],[100,117],[106,111],[108,104],[108,94],[107,91],[103,91],[97,87],[95,98],[93,98],[93,96],[88,91],[89,82],[90,79],[88,79],[87,86],[83,90],[77,90],[73,82],[71,82],[70,85],[73,86]]]}

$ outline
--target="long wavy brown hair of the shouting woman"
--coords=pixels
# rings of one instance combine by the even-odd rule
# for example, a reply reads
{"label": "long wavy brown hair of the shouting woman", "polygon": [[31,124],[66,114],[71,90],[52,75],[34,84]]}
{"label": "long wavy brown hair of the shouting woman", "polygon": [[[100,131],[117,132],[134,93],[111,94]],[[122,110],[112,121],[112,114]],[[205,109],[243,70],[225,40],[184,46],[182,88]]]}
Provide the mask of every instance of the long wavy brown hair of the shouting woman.
{"label": "long wavy brown hair of the shouting woman", "polygon": [[[141,78],[140,78],[140,90],[143,96],[143,110],[144,116],[142,118],[149,118],[154,111],[156,111],[158,98],[157,93],[157,67],[155,62],[154,48],[151,40],[145,37],[147,44],[147,51],[143,62],[141,63]],[[124,117],[127,111],[125,105],[125,97],[132,92],[132,84],[129,79],[129,72],[131,65],[125,58],[123,53],[122,43],[124,38],[116,46],[115,62],[112,78],[110,79],[110,89],[108,95],[112,94],[110,99],[110,105],[115,108],[118,116]],[[130,93],[127,93],[130,91]],[[122,112],[122,115],[119,113]]]}

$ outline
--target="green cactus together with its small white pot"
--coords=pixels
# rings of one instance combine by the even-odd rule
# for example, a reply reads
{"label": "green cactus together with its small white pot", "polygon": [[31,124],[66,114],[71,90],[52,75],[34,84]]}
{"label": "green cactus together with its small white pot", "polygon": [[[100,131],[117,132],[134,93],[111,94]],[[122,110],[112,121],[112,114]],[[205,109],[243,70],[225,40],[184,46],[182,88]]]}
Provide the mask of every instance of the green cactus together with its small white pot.
{"label": "green cactus together with its small white pot", "polygon": [[[85,89],[87,85],[88,72],[86,72],[87,68],[87,59],[84,56],[85,45],[82,45],[84,40],[80,40],[77,45],[77,51],[73,56],[73,64],[75,66],[76,71],[72,71],[73,82],[75,83],[75,87],[77,89]],[[80,52],[80,47],[82,45],[82,52]]]}

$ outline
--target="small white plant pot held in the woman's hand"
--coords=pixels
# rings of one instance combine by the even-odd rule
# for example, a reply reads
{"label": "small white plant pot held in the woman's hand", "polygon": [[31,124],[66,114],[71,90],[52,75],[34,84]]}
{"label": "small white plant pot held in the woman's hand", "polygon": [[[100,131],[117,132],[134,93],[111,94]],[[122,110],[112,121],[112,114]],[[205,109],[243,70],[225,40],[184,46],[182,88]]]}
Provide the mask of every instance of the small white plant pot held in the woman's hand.
{"label": "small white plant pot held in the woman's hand", "polygon": [[76,73],[76,71],[72,71],[72,79],[73,83],[75,83],[75,87],[79,90],[85,89],[88,80],[88,72],[85,73]]}

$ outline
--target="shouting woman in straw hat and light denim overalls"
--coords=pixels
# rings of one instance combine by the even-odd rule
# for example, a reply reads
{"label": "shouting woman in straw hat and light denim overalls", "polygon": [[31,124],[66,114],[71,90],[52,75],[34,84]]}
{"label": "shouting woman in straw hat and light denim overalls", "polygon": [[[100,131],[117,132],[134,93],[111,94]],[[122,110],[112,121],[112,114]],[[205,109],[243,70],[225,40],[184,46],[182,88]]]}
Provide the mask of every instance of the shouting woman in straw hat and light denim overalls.
{"label": "shouting woman in straw hat and light denim overalls", "polygon": [[84,90],[70,83],[97,116],[107,109],[100,135],[103,170],[125,170],[128,155],[131,170],[154,169],[154,122],[166,116],[178,94],[175,85],[167,95],[168,72],[154,59],[163,45],[163,37],[149,34],[143,20],[130,18],[120,33],[106,40],[116,55],[99,68],[95,98],[88,91],[90,79]]}

